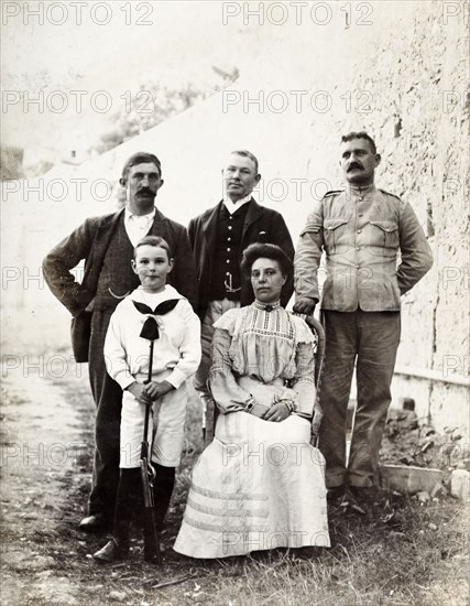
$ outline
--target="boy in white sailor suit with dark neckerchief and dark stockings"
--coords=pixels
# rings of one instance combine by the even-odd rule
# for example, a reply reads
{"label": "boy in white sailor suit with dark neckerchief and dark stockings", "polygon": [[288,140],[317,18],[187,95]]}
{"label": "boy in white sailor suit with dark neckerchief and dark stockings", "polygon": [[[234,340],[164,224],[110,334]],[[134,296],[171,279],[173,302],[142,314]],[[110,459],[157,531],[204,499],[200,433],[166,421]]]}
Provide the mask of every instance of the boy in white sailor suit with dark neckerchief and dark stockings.
{"label": "boy in white sailor suit with dark neckerchief and dark stockings", "polygon": [[[146,236],[134,249],[132,269],[141,285],[127,296],[111,316],[105,342],[108,374],[123,390],[120,434],[120,479],[112,540],[94,554],[112,562],[129,552],[129,526],[142,494],[140,445],[145,407],[152,405],[151,461],[155,469],[154,501],[159,528],[172,497],[175,468],[183,450],[186,416],[186,379],[200,361],[200,323],[190,303],[166,284],[173,258],[167,242]],[[152,317],[153,316],[153,317]],[[145,322],[155,318],[152,380],[149,376],[147,338],[141,336]],[[150,423],[152,432],[152,423]],[[151,435],[149,442],[152,443]]]}

